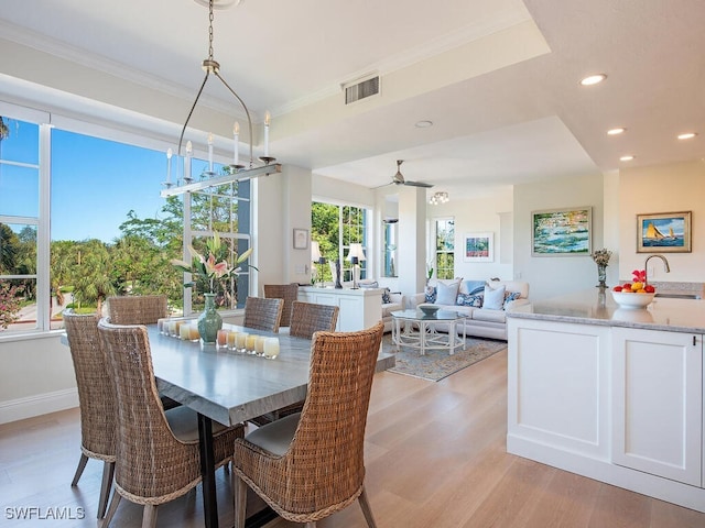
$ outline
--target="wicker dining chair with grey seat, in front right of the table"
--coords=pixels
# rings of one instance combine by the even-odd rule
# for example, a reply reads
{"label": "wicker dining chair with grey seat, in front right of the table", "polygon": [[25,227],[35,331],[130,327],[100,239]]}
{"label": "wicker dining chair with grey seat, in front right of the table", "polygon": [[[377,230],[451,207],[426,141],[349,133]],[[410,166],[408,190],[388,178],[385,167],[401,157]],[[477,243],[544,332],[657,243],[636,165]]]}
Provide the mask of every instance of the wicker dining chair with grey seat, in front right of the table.
{"label": "wicker dining chair with grey seat, in front right of the table", "polygon": [[364,440],[372,375],[384,324],[313,338],[308,393],[301,414],[235,441],[235,526],[245,526],[247,488],[281,517],[316,521],[359,501],[369,528]]}

